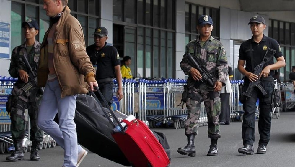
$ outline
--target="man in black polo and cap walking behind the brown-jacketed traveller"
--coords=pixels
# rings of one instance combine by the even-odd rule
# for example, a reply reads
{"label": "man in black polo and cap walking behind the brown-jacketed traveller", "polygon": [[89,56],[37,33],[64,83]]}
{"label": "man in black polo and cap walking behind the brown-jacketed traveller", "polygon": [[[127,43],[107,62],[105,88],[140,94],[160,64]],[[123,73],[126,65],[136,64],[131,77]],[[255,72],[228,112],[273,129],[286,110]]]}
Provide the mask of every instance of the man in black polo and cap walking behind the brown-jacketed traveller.
{"label": "man in black polo and cap walking behind the brown-jacketed traveller", "polygon": [[[115,47],[107,45],[107,29],[105,27],[97,27],[93,35],[95,43],[88,46],[86,52],[94,68],[96,68],[95,79],[98,81],[98,87],[109,105],[111,105],[114,76],[116,76],[119,85],[117,98],[121,100],[123,97],[120,57]],[[102,105],[104,105],[102,99],[99,96],[97,97]]]}

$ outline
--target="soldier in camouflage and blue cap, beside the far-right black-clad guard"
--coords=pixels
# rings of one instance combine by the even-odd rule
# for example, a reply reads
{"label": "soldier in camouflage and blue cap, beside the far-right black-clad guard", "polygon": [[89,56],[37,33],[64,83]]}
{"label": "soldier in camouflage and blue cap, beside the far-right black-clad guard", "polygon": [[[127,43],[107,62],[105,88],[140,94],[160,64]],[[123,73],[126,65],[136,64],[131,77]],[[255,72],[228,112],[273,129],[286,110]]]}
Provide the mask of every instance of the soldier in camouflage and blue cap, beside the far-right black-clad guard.
{"label": "soldier in camouflage and blue cap, beside the far-right black-clad guard", "polygon": [[208,117],[208,138],[211,138],[207,155],[216,156],[218,152],[217,139],[221,137],[218,119],[221,110],[219,91],[228,78],[227,57],[222,44],[211,36],[213,21],[210,16],[200,16],[197,29],[200,37],[187,44],[185,55],[190,53],[203,63],[213,76],[214,87],[200,81],[202,78],[200,72],[192,67],[190,61],[184,55],[180,67],[185,75],[189,76],[187,97],[183,97],[183,99],[186,99],[186,107],[188,108],[188,118],[185,122],[185,135],[188,144],[184,148],[179,148],[177,152],[182,155],[195,156],[194,140],[198,133],[201,102],[204,101]]}

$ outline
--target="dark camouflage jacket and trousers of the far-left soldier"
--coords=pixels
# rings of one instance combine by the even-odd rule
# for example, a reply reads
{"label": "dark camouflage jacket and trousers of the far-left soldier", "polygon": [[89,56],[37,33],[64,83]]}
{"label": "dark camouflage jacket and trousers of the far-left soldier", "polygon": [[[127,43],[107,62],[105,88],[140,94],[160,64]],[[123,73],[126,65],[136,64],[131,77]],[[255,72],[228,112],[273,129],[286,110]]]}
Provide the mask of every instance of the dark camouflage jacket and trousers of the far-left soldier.
{"label": "dark camouflage jacket and trousers of the far-left soldier", "polygon": [[[19,59],[23,54],[26,55],[32,69],[36,71],[40,56],[40,43],[36,41],[30,53],[27,53],[25,44],[14,48],[8,70],[9,74],[14,78],[19,77],[19,69],[25,70],[29,74],[29,69]],[[35,84],[32,83],[32,85]],[[14,141],[21,141],[25,138],[25,109],[27,108],[31,122],[30,140],[42,142],[43,131],[40,130],[36,123],[38,113],[37,103],[40,99],[38,89],[36,86],[33,86],[29,90],[26,90],[25,87],[27,87],[27,83],[19,79],[14,84],[12,90],[12,108],[10,112],[12,139]]]}

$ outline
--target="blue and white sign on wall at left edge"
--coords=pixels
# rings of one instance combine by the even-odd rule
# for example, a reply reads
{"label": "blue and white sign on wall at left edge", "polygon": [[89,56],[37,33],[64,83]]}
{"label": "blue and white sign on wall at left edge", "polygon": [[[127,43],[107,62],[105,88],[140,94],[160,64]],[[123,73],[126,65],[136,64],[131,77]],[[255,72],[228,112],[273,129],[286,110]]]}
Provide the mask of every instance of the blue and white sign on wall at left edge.
{"label": "blue and white sign on wall at left edge", "polygon": [[0,22],[0,58],[9,59],[10,24]]}

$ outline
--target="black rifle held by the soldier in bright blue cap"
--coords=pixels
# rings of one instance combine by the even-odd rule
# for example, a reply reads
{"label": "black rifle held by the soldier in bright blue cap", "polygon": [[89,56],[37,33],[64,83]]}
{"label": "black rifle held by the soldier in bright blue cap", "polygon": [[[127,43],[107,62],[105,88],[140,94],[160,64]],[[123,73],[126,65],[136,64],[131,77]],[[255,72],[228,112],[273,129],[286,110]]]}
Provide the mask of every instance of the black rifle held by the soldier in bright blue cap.
{"label": "black rifle held by the soldier in bright blue cap", "polygon": [[199,81],[207,82],[211,87],[214,87],[213,80],[212,80],[213,77],[210,74],[210,72],[206,69],[206,67],[201,65],[200,61],[198,59],[195,59],[190,53],[188,53],[186,56],[190,60],[190,63],[192,64],[192,66],[195,69],[197,69],[202,75],[202,79]]}

